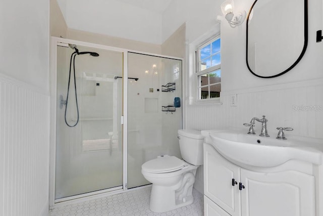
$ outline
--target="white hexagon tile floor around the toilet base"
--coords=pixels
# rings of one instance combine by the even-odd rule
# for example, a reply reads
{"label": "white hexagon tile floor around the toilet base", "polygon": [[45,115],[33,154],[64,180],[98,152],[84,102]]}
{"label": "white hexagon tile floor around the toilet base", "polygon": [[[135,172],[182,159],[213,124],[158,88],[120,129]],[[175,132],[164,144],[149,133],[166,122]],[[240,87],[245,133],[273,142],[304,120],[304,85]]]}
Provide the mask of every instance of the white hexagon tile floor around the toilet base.
{"label": "white hexagon tile floor around the toilet base", "polygon": [[163,213],[155,213],[149,209],[151,187],[126,193],[106,196],[103,198],[60,206],[49,210],[49,216],[79,216],[79,215],[113,215],[113,216],[202,216],[203,195],[193,189],[194,202],[181,208]]}

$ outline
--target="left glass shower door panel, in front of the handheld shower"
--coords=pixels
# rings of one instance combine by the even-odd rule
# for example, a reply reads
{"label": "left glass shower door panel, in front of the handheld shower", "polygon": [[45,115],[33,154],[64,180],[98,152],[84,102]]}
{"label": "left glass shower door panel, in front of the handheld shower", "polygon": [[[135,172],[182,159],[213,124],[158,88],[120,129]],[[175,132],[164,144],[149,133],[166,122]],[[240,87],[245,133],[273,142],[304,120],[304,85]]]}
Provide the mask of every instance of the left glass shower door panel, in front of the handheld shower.
{"label": "left glass shower door panel, in front of the handheld shower", "polygon": [[[73,64],[70,70],[74,50],[58,47],[57,200],[122,188],[120,119],[123,87],[122,79],[115,77],[122,76],[123,53],[81,46],[77,49],[79,52],[95,52],[99,56],[84,54],[75,57],[75,90]],[[71,78],[66,108],[64,100],[67,98],[69,71]]]}

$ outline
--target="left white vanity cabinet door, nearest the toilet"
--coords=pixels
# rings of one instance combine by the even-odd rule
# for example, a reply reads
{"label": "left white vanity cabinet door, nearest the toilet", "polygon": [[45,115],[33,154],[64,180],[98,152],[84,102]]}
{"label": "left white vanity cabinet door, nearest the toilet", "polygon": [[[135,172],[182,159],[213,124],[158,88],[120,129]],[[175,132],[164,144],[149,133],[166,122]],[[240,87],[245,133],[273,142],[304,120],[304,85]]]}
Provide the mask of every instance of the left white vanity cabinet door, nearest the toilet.
{"label": "left white vanity cabinet door, nearest the toilet", "polygon": [[[204,144],[204,195],[232,216],[238,216],[240,206],[240,168],[223,158],[209,144]],[[238,183],[232,186],[232,179]]]}

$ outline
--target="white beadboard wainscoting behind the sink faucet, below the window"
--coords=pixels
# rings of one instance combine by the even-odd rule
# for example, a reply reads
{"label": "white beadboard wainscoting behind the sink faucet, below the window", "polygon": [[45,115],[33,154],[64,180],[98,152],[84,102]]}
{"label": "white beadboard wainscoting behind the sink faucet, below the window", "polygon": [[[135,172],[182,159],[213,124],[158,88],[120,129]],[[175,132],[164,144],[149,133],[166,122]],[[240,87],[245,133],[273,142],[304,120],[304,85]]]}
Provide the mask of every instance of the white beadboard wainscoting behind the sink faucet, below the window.
{"label": "white beadboard wainscoting behind the sink faucet, below the window", "polygon": [[[265,88],[223,93],[222,105],[187,106],[187,128],[219,129],[245,127],[252,117],[265,115],[268,133],[277,135],[278,126],[293,127],[288,134],[323,138],[323,79],[272,85]],[[230,95],[237,94],[237,106]],[[248,128],[246,128],[246,132]],[[255,132],[261,125],[256,122]]]}

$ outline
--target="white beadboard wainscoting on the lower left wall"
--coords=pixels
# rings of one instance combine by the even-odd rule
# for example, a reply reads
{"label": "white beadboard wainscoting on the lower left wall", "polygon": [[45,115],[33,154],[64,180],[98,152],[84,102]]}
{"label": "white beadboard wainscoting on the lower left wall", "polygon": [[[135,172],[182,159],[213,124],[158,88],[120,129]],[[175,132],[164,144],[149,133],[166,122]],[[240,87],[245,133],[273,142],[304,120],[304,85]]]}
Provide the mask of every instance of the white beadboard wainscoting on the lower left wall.
{"label": "white beadboard wainscoting on the lower left wall", "polygon": [[0,215],[48,215],[49,96],[0,74]]}

